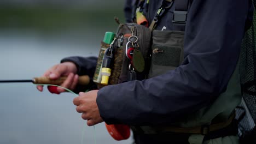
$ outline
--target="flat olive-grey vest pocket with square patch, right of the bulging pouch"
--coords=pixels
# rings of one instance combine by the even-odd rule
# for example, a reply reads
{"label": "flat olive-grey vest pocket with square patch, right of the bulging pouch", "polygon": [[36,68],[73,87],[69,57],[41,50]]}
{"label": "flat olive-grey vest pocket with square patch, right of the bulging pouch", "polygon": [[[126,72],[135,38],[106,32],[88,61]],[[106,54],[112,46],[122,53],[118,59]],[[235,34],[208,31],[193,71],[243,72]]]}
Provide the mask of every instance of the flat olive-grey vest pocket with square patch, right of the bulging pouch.
{"label": "flat olive-grey vest pocket with square patch, right of the bulging pouch", "polygon": [[152,59],[149,78],[177,68],[184,59],[184,32],[154,30],[152,35]]}

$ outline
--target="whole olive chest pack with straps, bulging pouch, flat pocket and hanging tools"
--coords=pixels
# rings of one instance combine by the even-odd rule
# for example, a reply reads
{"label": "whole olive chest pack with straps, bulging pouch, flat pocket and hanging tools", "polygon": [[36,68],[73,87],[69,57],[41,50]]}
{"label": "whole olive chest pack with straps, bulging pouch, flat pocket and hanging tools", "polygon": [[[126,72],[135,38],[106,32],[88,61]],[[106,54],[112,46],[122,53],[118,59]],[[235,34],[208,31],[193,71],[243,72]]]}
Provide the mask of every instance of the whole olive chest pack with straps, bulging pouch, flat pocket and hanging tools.
{"label": "whole olive chest pack with straps, bulging pouch, flat pocket and hanging tools", "polygon": [[[98,88],[132,80],[144,80],[178,67],[183,61],[188,2],[188,0],[176,2],[173,16],[173,26],[176,31],[158,31],[154,28],[166,10],[172,7],[173,1],[162,2],[150,26],[142,14],[148,1],[137,1],[136,11],[134,11],[135,22],[119,23],[117,21],[119,27],[112,43],[107,44],[103,41],[101,43],[94,75],[94,82],[97,83]],[[106,65],[109,65],[108,71],[111,70],[111,72],[108,73],[108,82],[102,82],[102,68]],[[103,73],[107,72],[105,68],[103,70]]]}

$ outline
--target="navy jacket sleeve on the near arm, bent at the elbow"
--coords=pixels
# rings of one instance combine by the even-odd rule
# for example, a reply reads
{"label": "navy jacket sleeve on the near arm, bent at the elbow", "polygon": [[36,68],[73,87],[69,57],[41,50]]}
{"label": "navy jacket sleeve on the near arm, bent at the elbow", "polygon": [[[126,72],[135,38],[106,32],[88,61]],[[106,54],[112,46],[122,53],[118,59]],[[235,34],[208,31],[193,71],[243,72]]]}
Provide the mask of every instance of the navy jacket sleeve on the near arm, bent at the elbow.
{"label": "navy jacket sleeve on the near arm, bent at the elbow", "polygon": [[244,0],[193,1],[183,64],[151,79],[100,89],[101,117],[108,124],[170,124],[211,104],[236,67],[247,11]]}

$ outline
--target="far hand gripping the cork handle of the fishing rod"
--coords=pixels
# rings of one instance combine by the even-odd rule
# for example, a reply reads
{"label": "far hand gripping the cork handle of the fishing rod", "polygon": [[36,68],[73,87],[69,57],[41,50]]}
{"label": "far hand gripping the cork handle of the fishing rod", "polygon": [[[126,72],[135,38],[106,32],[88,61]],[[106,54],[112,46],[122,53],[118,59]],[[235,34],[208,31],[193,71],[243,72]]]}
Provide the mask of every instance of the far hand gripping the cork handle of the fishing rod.
{"label": "far hand gripping the cork handle of the fishing rod", "polygon": [[[61,84],[62,87],[73,90],[78,83],[77,67],[72,62],[64,62],[54,65],[46,70],[43,76],[52,80],[59,79],[61,76],[67,76],[67,79]],[[38,91],[43,91],[43,86],[37,86]],[[65,89],[58,87],[57,92],[65,92]]]}

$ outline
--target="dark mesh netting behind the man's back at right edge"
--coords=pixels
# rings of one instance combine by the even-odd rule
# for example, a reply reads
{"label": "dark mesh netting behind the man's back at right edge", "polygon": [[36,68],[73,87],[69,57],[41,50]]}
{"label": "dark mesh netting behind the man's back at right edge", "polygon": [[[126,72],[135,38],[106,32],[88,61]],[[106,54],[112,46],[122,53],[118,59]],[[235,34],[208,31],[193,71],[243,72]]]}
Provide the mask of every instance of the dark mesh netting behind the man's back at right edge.
{"label": "dark mesh netting behind the man's back at right edge", "polygon": [[256,15],[254,11],[252,27],[247,31],[242,41],[240,75],[243,98],[254,119],[256,119]]}

